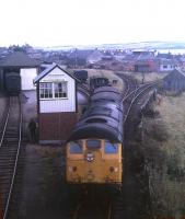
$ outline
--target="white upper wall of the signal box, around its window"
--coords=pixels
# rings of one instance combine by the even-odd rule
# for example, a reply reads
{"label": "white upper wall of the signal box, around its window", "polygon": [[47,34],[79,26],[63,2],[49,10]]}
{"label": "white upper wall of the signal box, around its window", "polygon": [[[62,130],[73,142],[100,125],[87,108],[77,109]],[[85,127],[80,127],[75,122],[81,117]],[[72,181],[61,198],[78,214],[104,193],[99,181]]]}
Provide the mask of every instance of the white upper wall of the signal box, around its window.
{"label": "white upper wall of the signal box, around its window", "polygon": [[67,99],[39,100],[41,113],[76,112],[76,81],[58,67],[44,77],[41,82],[67,81]]}

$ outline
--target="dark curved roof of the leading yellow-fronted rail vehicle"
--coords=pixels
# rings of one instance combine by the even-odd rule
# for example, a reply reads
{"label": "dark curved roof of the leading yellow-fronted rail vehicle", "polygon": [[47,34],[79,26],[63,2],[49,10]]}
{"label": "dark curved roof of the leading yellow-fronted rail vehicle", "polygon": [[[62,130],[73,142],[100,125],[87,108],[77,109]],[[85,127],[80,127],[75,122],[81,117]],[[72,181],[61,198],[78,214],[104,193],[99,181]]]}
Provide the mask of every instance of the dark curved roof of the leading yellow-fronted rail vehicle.
{"label": "dark curved roof of the leading yellow-fronted rail vehicle", "polygon": [[112,102],[91,103],[68,141],[88,138],[123,142],[123,105]]}

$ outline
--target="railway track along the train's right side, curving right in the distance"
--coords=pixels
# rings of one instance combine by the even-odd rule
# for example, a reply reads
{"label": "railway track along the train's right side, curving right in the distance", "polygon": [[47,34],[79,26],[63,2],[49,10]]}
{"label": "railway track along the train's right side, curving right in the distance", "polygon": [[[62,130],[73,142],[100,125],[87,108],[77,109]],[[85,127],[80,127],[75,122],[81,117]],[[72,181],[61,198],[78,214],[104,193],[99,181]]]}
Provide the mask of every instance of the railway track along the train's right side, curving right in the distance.
{"label": "railway track along the train's right side, curving right in the distance", "polygon": [[[140,123],[140,106],[146,101],[149,92],[154,90],[155,83],[148,83],[137,88],[124,100],[124,218],[143,219],[150,218],[149,193],[147,189],[147,174],[143,170],[142,151],[137,139],[138,124]],[[137,176],[141,177],[138,181]],[[149,215],[148,215],[149,214]]]}

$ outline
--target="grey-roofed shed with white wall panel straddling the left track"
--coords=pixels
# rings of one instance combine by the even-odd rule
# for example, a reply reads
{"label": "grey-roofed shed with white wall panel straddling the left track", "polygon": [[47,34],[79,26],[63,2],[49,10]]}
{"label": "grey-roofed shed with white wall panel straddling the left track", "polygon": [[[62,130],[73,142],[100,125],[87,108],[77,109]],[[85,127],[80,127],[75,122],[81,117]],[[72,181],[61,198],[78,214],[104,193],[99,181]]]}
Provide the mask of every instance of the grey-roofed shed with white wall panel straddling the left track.
{"label": "grey-roofed shed with white wall panel straddling the left track", "polygon": [[11,71],[20,73],[22,90],[34,90],[33,79],[37,76],[39,65],[41,61],[21,51],[8,55],[0,60],[0,90],[4,90],[4,74]]}

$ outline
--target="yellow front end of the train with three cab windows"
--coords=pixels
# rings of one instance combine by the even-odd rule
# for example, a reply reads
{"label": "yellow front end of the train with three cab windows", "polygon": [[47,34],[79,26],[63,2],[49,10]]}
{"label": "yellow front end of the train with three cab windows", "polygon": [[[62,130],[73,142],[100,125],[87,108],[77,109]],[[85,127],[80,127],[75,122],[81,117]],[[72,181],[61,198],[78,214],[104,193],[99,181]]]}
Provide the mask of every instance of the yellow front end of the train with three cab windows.
{"label": "yellow front end of the train with three cab windows", "polygon": [[122,143],[104,139],[70,141],[67,145],[67,182],[120,184]]}

